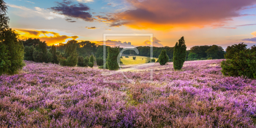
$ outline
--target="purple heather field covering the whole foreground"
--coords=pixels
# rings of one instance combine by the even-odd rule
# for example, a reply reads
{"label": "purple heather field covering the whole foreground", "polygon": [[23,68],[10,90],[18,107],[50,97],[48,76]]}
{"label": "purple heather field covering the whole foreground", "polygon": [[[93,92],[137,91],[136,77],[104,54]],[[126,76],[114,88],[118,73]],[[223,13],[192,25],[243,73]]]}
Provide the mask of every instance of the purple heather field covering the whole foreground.
{"label": "purple heather field covering the whole foreground", "polygon": [[[227,77],[222,60],[172,62],[124,74],[25,61],[19,74],[0,76],[2,127],[256,127],[256,80]],[[153,68],[153,83],[150,80]],[[124,80],[125,83],[103,83]]]}

